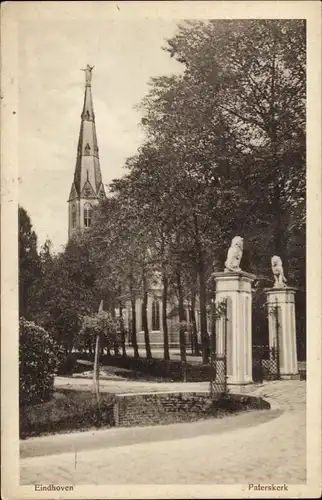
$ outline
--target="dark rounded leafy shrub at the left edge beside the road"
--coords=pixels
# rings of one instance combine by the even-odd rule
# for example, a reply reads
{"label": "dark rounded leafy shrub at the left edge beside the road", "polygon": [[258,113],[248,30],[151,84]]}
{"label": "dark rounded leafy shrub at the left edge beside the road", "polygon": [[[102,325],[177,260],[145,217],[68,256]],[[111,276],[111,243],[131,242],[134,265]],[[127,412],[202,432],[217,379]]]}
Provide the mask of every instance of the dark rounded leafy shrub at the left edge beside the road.
{"label": "dark rounded leafy shrub at the left edge beside the road", "polygon": [[63,359],[59,344],[44,328],[21,318],[19,321],[19,400],[20,405],[48,401],[54,376]]}

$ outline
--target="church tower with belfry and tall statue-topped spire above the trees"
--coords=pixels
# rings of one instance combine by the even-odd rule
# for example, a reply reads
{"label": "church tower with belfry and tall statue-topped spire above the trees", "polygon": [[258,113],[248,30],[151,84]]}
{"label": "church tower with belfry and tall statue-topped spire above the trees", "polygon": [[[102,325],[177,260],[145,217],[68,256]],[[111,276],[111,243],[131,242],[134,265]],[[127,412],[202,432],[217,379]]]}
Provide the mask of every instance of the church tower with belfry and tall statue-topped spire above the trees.
{"label": "church tower with belfry and tall statue-topped spire above the trees", "polygon": [[93,207],[106,197],[102,183],[92,100],[92,71],[85,71],[85,95],[77,146],[74,182],[69,194],[68,239],[84,234],[92,222]]}

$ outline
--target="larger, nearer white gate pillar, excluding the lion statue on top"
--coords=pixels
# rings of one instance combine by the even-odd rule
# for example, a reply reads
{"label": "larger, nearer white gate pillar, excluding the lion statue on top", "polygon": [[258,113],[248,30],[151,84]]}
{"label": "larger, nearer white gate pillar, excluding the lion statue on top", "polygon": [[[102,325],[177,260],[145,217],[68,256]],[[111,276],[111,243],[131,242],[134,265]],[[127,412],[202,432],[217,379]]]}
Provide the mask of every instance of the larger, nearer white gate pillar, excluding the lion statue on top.
{"label": "larger, nearer white gate pillar, excluding the lion statue on top", "polygon": [[[253,274],[244,271],[217,272],[216,304],[227,302],[224,318],[216,322],[216,353],[227,355],[227,385],[232,391],[242,392],[252,384],[252,282]],[[226,337],[226,338],[225,338]]]}

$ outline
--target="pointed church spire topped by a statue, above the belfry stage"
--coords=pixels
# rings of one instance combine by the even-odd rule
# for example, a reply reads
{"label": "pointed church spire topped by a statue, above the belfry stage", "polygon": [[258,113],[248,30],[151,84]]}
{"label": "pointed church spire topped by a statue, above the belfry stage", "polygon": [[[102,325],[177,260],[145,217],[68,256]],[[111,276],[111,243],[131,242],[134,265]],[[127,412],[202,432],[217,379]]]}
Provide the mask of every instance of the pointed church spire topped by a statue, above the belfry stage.
{"label": "pointed church spire topped by a statue, above the belfry stage", "polygon": [[[77,146],[77,158],[73,183],[74,189],[72,187],[71,191],[71,195],[73,194],[74,196],[74,190],[76,190],[77,196],[79,197],[85,196],[85,192],[89,193],[89,191],[91,191],[90,197],[98,197],[99,190],[101,191],[102,185],[91,86],[93,68],[94,66],[91,67],[87,65],[87,67],[82,70],[85,71],[85,93]],[[84,191],[85,184],[86,189]],[[69,199],[72,199],[71,196]]]}

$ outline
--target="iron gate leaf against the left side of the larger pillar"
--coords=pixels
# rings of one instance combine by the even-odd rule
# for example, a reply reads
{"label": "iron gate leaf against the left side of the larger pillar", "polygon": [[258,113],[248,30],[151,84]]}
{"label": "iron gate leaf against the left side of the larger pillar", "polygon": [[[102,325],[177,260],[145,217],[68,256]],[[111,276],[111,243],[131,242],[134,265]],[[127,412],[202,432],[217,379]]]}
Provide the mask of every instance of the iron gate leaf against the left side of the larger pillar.
{"label": "iron gate leaf against the left side of the larger pillar", "polygon": [[213,306],[216,330],[222,328],[222,351],[218,353],[216,332],[211,335],[210,395],[219,396],[227,392],[227,300]]}

